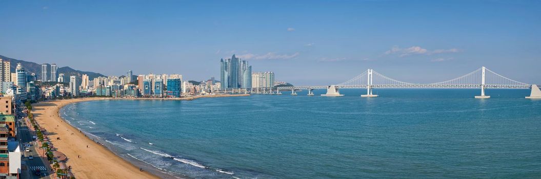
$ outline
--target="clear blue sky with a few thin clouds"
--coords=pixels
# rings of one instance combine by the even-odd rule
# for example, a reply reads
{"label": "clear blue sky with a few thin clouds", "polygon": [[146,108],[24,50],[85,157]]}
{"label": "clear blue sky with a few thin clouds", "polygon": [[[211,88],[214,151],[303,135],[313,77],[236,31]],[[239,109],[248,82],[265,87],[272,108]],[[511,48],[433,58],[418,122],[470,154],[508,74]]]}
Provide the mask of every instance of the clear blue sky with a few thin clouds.
{"label": "clear blue sky with a few thin clouds", "polygon": [[367,68],[437,82],[486,66],[541,84],[541,1],[1,1],[0,54],[106,75],[219,78],[246,59],[294,85]]}

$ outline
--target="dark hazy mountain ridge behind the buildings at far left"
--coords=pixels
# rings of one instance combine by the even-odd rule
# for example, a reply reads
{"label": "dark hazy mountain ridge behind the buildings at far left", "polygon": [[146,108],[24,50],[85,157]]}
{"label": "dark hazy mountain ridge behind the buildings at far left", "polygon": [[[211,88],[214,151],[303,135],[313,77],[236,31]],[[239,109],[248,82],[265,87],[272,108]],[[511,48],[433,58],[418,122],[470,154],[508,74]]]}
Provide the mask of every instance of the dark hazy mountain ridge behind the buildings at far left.
{"label": "dark hazy mountain ridge behind the buildings at far left", "polygon": [[[5,57],[5,56],[0,56],[0,58],[4,60],[10,60],[11,73],[15,73],[15,69],[17,68],[17,63],[21,63],[21,65],[24,66],[24,70],[26,70],[28,73],[35,73],[36,79],[41,79],[41,64],[37,64],[31,61],[17,60],[17,59]],[[84,72],[80,70],[74,70],[73,68],[70,68],[69,66],[58,68],[56,73],[57,74],[64,73],[64,81],[69,81],[69,77],[71,75],[77,75],[79,77],[82,77],[83,74],[87,74],[90,80],[96,77],[106,77],[105,75],[96,73],[96,72]]]}

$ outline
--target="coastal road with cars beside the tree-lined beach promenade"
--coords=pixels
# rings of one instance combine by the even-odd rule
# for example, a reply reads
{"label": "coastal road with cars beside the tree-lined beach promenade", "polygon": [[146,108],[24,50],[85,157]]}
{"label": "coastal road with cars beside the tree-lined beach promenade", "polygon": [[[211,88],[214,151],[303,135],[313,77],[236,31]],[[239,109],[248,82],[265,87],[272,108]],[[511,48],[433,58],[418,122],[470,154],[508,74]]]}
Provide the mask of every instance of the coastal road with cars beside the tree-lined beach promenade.
{"label": "coastal road with cars beside the tree-lined beach promenade", "polygon": [[[32,140],[32,134],[26,125],[25,119],[22,119],[22,122],[19,122],[18,132],[17,132],[17,139],[19,139],[19,142],[21,143],[21,146],[23,146],[23,143],[29,143],[30,146],[30,152],[24,151],[24,146],[21,148],[23,150],[24,157],[21,160],[21,163],[25,164],[27,166],[26,170],[21,171],[21,177],[20,178],[28,178],[28,179],[37,179],[37,178],[53,178],[51,177],[51,169],[49,166],[45,165],[44,160],[42,157],[39,157],[38,153],[36,152],[36,147],[34,145],[34,141]],[[32,155],[34,159],[29,159],[28,156]],[[34,171],[36,168],[39,168],[42,171],[42,174],[37,176],[34,174]],[[45,169],[43,171],[42,169]]]}

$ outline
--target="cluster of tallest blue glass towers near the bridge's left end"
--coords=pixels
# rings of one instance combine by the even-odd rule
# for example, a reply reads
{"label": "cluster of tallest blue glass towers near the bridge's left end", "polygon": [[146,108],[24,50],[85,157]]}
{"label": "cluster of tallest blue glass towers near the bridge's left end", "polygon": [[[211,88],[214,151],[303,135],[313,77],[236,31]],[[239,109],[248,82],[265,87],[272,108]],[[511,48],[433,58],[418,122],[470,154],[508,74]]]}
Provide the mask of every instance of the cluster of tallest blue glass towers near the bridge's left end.
{"label": "cluster of tallest blue glass towers near the bridge's left end", "polygon": [[220,59],[220,80],[222,88],[251,88],[252,66],[248,61],[236,58]]}

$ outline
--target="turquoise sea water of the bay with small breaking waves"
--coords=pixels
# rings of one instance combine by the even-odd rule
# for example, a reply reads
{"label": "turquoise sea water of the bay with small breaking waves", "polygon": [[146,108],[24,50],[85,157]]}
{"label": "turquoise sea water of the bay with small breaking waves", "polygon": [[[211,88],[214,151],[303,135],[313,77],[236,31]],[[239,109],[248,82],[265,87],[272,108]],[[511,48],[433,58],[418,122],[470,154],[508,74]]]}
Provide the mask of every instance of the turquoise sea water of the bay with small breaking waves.
{"label": "turquoise sea water of the bay with small breaking waves", "polygon": [[524,99],[529,90],[324,92],[90,101],[61,115],[125,159],[177,176],[541,177],[541,100]]}

